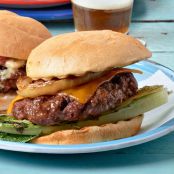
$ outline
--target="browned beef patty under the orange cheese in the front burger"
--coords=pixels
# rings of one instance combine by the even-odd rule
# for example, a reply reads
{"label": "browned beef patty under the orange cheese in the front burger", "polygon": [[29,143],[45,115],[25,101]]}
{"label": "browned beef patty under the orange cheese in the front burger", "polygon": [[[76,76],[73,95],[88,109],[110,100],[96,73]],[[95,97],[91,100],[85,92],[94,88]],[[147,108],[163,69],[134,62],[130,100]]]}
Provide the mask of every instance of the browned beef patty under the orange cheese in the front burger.
{"label": "browned beef patty under the orange cheese in the front burger", "polygon": [[133,74],[123,73],[100,85],[86,104],[66,94],[57,93],[19,100],[13,106],[12,114],[18,119],[27,119],[40,125],[97,119],[103,112],[114,109],[135,95],[137,89]]}

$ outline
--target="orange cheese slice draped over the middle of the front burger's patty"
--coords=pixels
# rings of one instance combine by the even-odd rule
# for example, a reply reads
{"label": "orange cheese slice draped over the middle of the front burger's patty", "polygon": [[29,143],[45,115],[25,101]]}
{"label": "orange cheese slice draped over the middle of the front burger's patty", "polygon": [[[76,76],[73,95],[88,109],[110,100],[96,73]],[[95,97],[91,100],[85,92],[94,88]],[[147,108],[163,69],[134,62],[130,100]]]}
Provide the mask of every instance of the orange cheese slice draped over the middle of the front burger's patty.
{"label": "orange cheese slice draped over the middle of the front burger's patty", "polygon": [[133,72],[133,73],[142,73],[139,70],[133,70],[133,69],[126,69],[126,68],[116,68],[105,75],[103,75],[100,78],[97,78],[95,80],[92,80],[86,84],[66,89],[61,91],[61,93],[65,93],[67,95],[72,96],[76,100],[78,100],[80,103],[84,104],[86,103],[95,93],[97,88],[103,84],[106,81],[110,81],[115,75],[121,74],[121,73],[127,73],[127,72]]}

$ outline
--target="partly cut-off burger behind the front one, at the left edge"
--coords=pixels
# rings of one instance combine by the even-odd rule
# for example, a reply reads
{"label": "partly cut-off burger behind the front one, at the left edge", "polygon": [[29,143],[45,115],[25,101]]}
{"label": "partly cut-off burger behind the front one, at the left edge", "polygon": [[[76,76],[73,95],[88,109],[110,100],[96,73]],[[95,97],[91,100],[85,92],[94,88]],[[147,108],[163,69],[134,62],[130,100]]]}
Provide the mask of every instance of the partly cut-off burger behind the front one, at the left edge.
{"label": "partly cut-off burger behind the front one, at the left edge", "polygon": [[33,48],[51,37],[34,19],[0,10],[0,111],[14,98],[16,80],[25,75],[26,59]]}

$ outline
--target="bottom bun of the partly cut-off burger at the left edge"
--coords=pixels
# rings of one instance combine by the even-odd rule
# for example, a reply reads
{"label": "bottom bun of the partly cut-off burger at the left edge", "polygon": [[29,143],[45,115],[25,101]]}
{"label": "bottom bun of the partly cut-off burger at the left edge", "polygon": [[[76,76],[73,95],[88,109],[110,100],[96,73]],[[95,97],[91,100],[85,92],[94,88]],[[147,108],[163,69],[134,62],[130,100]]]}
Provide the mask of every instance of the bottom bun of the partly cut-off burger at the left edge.
{"label": "bottom bun of the partly cut-off burger at the left edge", "polygon": [[0,93],[0,114],[6,114],[9,104],[16,95],[16,92],[6,94]]}

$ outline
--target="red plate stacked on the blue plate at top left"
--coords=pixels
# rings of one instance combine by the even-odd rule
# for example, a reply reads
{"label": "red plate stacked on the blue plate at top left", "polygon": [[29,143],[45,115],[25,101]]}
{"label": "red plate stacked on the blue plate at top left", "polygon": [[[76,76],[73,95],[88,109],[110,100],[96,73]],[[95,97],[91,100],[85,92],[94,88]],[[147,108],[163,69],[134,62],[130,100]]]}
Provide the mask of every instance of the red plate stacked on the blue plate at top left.
{"label": "red plate stacked on the blue plate at top left", "polygon": [[5,5],[54,5],[68,3],[70,0],[1,0],[0,4]]}

